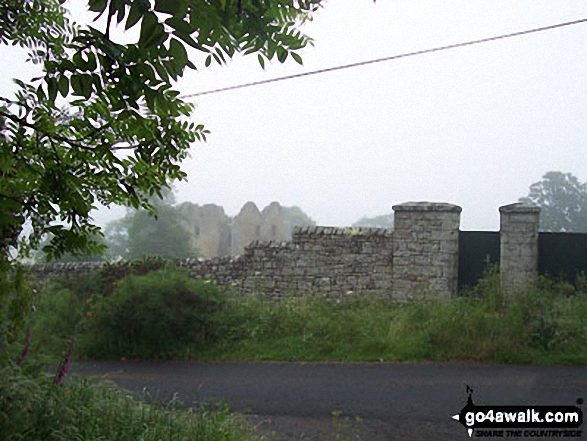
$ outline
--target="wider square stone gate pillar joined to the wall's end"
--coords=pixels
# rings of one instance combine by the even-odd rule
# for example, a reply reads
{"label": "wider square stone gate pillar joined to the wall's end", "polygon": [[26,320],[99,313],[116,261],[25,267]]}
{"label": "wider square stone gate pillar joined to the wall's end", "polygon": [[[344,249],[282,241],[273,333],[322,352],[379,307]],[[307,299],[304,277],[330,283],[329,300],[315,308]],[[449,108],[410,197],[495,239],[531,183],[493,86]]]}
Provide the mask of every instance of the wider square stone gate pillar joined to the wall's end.
{"label": "wider square stone gate pillar joined to the wall's end", "polygon": [[393,210],[393,298],[456,295],[461,207],[408,202]]}

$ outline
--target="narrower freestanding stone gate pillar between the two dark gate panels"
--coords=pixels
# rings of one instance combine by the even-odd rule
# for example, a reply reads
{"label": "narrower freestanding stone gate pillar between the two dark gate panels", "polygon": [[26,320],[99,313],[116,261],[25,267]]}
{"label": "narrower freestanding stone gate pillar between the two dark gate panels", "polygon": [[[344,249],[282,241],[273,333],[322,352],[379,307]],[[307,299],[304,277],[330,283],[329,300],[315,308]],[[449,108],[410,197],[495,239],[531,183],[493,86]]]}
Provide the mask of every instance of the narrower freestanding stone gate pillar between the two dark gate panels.
{"label": "narrower freestanding stone gate pillar between the two dark gate panels", "polygon": [[499,207],[500,263],[506,295],[523,291],[538,276],[540,207],[515,203]]}

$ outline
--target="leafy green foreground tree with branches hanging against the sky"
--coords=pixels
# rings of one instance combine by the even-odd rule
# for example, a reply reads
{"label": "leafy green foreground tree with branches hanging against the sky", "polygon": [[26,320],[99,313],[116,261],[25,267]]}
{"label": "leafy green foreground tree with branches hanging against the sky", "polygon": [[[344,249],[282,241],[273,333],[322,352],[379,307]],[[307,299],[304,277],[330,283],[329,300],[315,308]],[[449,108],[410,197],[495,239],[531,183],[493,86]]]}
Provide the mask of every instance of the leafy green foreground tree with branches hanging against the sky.
{"label": "leafy green foreground tree with branches hanging against the sky", "polygon": [[[188,49],[204,66],[237,53],[301,63],[296,51],[311,40],[298,26],[321,1],[89,0],[105,14],[101,31],[70,22],[60,0],[4,0],[0,44],[28,50],[43,75],[0,97],[2,259],[48,233],[50,258],[102,249],[97,203],[153,211],[149,197],[185,179],[180,163],[208,133],[173,89],[197,67]],[[138,26],[138,42],[114,41],[115,22]]]}

